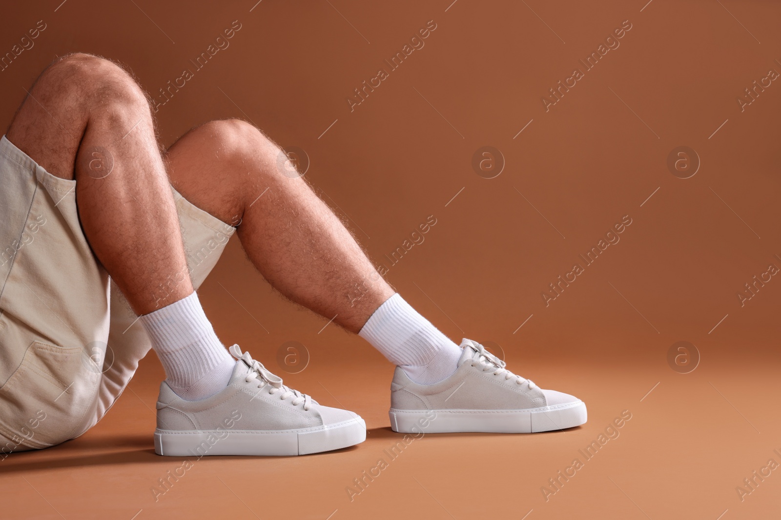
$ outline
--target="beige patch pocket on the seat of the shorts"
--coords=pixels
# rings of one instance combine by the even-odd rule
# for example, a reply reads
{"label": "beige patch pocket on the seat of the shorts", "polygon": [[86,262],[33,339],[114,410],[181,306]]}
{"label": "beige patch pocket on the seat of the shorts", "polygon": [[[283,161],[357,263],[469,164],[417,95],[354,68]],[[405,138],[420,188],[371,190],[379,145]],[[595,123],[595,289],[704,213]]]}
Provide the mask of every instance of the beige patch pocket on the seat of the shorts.
{"label": "beige patch pocket on the seat of the shorts", "polygon": [[80,347],[33,341],[19,368],[0,387],[0,433],[33,448],[80,433],[100,380],[100,372],[89,370],[83,356]]}

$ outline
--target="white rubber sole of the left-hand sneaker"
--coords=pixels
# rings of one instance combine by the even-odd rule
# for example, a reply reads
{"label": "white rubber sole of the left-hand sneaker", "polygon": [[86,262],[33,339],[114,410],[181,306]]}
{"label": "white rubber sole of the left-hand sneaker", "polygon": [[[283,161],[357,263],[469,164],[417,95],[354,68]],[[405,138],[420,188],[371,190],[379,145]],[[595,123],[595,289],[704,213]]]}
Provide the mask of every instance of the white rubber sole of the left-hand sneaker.
{"label": "white rubber sole of the left-hand sneaker", "polygon": [[309,455],[355,446],[366,440],[360,417],[299,430],[155,430],[155,453],[172,457],[204,455]]}

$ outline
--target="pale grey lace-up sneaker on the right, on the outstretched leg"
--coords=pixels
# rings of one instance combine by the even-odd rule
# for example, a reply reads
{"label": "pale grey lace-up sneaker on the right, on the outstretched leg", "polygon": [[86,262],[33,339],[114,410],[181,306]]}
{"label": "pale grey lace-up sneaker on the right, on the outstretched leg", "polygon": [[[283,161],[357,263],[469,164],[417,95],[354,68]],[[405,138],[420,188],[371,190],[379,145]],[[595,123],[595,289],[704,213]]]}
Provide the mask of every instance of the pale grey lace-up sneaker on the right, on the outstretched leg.
{"label": "pale grey lace-up sneaker on the right, on the outstretched leg", "polygon": [[458,369],[435,384],[417,384],[396,367],[391,428],[401,433],[536,433],[586,423],[586,404],[541,390],[505,369],[505,362],[464,339]]}

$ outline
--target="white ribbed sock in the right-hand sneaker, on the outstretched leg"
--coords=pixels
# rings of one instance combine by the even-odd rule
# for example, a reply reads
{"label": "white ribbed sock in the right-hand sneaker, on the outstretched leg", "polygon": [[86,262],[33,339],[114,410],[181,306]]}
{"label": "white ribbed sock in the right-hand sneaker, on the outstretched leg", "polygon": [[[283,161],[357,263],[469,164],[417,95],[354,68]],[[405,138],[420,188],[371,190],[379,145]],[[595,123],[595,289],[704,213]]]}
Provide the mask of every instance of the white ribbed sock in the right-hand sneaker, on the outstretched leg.
{"label": "white ribbed sock in the right-hand sneaker, on the outstretched leg", "polygon": [[387,299],[358,335],[401,366],[419,384],[433,384],[455,373],[462,348],[412,309],[401,295]]}

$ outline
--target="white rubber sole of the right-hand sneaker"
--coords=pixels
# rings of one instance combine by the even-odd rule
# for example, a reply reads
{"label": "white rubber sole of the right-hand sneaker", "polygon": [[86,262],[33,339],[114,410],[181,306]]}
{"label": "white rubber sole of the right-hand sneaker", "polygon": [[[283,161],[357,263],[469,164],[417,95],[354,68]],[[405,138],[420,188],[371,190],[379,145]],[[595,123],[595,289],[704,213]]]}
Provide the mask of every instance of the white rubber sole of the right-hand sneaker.
{"label": "white rubber sole of the right-hand sneaker", "polygon": [[[397,410],[388,412],[399,433],[537,433],[586,423],[586,403],[525,410]],[[433,416],[433,418],[432,418]]]}

